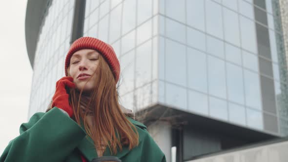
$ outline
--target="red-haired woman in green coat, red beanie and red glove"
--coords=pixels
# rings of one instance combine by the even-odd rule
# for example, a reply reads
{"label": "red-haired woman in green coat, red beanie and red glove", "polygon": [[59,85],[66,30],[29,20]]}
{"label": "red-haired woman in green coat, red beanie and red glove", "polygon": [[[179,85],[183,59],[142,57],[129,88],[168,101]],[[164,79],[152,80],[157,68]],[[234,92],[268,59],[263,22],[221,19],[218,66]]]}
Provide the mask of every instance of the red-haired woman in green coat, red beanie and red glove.
{"label": "red-haired woman in green coat, red beanie and red glove", "polygon": [[91,162],[116,156],[122,162],[165,162],[146,126],[118,102],[120,64],[113,48],[82,37],[71,45],[65,75],[56,83],[46,113],[21,124],[0,162]]}

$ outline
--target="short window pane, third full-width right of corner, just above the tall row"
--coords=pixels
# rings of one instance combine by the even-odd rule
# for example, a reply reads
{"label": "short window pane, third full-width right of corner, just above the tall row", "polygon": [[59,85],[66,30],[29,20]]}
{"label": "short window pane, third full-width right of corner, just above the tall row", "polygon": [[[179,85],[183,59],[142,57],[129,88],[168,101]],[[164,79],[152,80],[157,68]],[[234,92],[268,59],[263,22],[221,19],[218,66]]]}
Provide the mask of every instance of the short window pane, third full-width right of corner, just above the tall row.
{"label": "short window pane, third full-width right of corner, just above the tall row", "polygon": [[224,42],[207,36],[207,52],[224,59]]}

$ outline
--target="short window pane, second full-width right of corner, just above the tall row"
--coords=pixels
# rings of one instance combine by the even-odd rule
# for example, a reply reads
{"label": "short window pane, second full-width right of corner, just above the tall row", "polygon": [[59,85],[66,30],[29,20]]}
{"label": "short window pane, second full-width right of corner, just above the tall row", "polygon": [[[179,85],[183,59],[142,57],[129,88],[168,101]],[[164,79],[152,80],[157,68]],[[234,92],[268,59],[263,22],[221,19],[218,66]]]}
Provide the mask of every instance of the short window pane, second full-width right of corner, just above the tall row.
{"label": "short window pane, second full-width right of corner, just above the tall row", "polygon": [[205,34],[187,27],[187,45],[206,51]]}

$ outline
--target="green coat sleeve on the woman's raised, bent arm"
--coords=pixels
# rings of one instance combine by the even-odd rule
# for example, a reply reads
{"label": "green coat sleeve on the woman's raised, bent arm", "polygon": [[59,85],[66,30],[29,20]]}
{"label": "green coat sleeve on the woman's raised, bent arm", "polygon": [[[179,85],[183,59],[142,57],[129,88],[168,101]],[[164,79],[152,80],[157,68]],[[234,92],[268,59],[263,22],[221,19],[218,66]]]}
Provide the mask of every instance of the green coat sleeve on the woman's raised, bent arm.
{"label": "green coat sleeve on the woman's raised, bent arm", "polygon": [[59,108],[34,114],[21,124],[0,162],[62,162],[85,137],[84,130]]}

